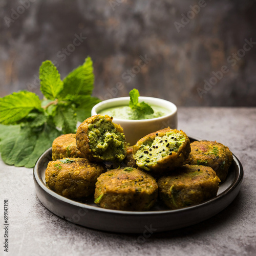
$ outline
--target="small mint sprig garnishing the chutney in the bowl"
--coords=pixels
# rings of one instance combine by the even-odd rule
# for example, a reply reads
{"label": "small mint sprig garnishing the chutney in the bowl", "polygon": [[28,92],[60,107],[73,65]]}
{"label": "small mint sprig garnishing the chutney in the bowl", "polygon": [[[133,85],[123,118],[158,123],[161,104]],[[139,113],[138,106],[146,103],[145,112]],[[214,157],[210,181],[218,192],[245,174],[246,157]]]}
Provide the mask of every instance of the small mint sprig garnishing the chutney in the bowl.
{"label": "small mint sprig garnishing the chutney in the bowl", "polygon": [[139,102],[139,91],[137,89],[133,89],[129,93],[130,95],[130,108],[136,112],[138,116],[150,115],[154,114],[154,110],[151,108],[150,105],[145,103],[144,101]]}

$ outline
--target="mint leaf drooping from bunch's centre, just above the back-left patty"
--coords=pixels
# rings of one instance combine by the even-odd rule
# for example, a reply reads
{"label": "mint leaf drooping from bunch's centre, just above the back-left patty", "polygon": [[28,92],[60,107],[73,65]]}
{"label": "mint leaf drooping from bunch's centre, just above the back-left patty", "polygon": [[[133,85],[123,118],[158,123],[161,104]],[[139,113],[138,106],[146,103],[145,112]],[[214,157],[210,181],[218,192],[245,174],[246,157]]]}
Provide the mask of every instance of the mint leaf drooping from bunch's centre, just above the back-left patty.
{"label": "mint leaf drooping from bunch's centre, just above the back-left patty", "polygon": [[72,105],[58,105],[53,121],[63,134],[76,132],[77,118]]}

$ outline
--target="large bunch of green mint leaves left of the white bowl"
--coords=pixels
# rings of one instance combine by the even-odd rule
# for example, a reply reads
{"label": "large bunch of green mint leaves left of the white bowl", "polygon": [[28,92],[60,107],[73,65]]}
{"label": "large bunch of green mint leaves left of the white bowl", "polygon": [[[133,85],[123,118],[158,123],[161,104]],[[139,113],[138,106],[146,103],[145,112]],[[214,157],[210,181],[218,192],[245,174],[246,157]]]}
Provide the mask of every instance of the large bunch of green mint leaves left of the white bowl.
{"label": "large bunch of green mint leaves left of the white bowl", "polygon": [[0,98],[0,153],[5,163],[33,167],[38,157],[61,134],[75,133],[77,121],[91,116],[100,100],[92,97],[93,63],[90,57],[66,78],[50,60],[39,68],[44,99],[19,91]]}

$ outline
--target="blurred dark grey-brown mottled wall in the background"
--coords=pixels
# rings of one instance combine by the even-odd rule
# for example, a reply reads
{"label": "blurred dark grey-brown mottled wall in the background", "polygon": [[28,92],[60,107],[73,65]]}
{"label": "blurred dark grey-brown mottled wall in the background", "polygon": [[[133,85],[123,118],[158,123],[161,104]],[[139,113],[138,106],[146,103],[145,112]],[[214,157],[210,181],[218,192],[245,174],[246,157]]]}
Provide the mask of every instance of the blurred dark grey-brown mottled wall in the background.
{"label": "blurred dark grey-brown mottled wall in the background", "polygon": [[[26,8],[20,7],[24,1]],[[238,60],[232,54],[245,39],[256,41],[256,2],[205,0],[178,32],[174,23],[198,3],[0,0],[0,96],[19,89],[40,93],[36,77],[46,59],[55,61],[65,77],[90,55],[94,95],[101,99],[127,96],[137,88],[143,96],[177,105],[255,106],[256,46]],[[87,38],[73,47],[80,34]],[[140,56],[151,60],[138,69]],[[222,66],[228,72],[200,97],[204,79]],[[127,70],[134,70],[130,78]]]}

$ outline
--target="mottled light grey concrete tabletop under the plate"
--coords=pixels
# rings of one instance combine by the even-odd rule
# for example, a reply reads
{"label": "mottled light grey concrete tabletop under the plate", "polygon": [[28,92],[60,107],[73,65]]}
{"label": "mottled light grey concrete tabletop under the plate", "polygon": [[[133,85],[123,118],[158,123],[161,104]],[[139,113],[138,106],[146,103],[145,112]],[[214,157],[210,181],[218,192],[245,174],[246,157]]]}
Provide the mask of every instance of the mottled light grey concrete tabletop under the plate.
{"label": "mottled light grey concrete tabletop under the plate", "polygon": [[[32,169],[0,162],[0,255],[256,255],[256,108],[179,108],[179,129],[217,140],[240,159],[244,180],[237,198],[218,215],[179,230],[109,233],[77,226],[53,215],[37,199]],[[9,252],[4,252],[4,200],[8,199]],[[142,235],[142,234],[141,234]]]}

